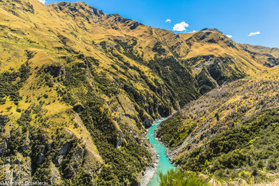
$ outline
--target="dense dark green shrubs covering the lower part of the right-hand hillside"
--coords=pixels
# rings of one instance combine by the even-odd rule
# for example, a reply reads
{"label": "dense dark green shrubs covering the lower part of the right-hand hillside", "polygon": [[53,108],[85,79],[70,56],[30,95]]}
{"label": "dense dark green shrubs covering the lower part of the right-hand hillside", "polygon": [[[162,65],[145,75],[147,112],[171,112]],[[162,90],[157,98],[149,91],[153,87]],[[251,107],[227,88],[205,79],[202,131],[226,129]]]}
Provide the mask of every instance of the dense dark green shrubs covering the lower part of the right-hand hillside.
{"label": "dense dark green shrubs covering the lower part of the right-hand hillside", "polygon": [[260,171],[278,171],[279,109],[262,111],[209,143],[176,160],[184,170],[212,173],[217,178],[265,179]]}

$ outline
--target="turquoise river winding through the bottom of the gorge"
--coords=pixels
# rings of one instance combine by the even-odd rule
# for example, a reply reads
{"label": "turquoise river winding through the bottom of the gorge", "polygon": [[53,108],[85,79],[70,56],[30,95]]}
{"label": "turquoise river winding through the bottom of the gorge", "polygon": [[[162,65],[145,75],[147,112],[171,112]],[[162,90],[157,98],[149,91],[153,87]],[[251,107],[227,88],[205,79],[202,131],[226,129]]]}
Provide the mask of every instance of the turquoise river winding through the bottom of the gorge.
{"label": "turquoise river winding through the bottom of the gorge", "polygon": [[159,185],[158,173],[160,171],[162,171],[163,173],[167,173],[167,170],[174,169],[174,166],[172,166],[172,164],[169,162],[169,159],[167,158],[167,155],[165,154],[165,150],[166,150],[165,146],[160,144],[154,138],[154,131],[156,130],[156,127],[158,127],[158,125],[164,120],[165,119],[157,121],[155,123],[155,125],[153,125],[149,128],[149,132],[147,134],[150,144],[155,147],[156,153],[159,155],[159,163],[158,163],[158,167],[156,170],[156,174],[154,174],[153,178],[151,179],[149,186],[158,186]]}

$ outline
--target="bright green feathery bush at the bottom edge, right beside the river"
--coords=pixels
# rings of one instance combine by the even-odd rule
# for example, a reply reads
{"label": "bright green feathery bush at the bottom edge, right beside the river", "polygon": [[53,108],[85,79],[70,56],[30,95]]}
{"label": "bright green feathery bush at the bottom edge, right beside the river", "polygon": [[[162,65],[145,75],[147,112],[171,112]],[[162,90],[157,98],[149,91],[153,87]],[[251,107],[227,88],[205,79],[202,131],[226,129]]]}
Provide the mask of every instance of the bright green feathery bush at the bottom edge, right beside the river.
{"label": "bright green feathery bush at the bottom edge, right beside the river", "polygon": [[195,173],[186,173],[179,169],[171,169],[166,174],[159,173],[160,186],[206,186],[209,185]]}

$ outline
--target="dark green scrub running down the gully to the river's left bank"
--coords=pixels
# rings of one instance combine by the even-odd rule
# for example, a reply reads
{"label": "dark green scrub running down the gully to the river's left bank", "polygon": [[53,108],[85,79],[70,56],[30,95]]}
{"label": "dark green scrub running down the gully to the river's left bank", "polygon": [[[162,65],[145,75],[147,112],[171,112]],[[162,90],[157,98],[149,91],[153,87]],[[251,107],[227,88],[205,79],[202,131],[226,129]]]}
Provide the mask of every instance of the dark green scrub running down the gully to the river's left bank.
{"label": "dark green scrub running down the gully to the river's left bank", "polygon": [[[137,172],[141,171],[151,161],[151,154],[144,146],[137,144],[139,139],[133,137],[135,132],[130,133],[126,129],[123,130],[125,131],[124,134],[118,134],[114,123],[109,119],[110,116],[107,113],[102,113],[91,102],[86,104],[80,116],[91,133],[103,160],[110,164],[110,166],[103,167],[98,176],[97,184],[136,184]],[[94,123],[94,125],[91,125],[91,123]],[[126,137],[125,143],[122,144],[119,135]],[[116,148],[119,145],[122,145],[121,149]]]}

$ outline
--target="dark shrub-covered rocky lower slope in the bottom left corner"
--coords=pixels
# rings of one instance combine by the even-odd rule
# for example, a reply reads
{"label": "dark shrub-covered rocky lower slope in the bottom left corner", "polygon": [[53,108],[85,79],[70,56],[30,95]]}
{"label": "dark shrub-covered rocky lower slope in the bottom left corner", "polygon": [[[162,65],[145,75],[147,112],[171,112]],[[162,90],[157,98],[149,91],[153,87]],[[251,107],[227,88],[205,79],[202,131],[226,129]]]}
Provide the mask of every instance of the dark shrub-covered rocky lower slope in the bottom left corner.
{"label": "dark shrub-covered rocky lower slope in the bottom left corner", "polygon": [[[32,105],[25,110],[17,120],[18,126],[10,130],[10,137],[1,141],[1,171],[13,170],[16,179],[23,181],[88,185],[93,179],[88,168],[93,166],[83,160],[88,156],[84,144],[63,128],[57,128],[47,137],[44,127],[50,123],[42,118],[41,106]],[[31,125],[31,113],[40,127]],[[1,173],[0,179],[6,179],[5,175],[12,176]]]}

